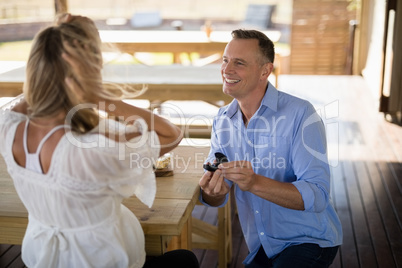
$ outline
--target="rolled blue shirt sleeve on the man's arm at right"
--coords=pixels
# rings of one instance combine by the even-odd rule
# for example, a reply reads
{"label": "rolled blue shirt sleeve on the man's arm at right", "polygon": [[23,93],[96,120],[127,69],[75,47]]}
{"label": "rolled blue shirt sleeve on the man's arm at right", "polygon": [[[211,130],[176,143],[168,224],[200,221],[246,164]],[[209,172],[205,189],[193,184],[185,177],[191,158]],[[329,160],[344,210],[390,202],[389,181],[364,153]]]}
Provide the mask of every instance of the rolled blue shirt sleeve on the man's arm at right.
{"label": "rolled blue shirt sleeve on the man's arm at right", "polygon": [[321,212],[329,203],[330,171],[324,124],[309,104],[295,120],[291,161],[305,211]]}

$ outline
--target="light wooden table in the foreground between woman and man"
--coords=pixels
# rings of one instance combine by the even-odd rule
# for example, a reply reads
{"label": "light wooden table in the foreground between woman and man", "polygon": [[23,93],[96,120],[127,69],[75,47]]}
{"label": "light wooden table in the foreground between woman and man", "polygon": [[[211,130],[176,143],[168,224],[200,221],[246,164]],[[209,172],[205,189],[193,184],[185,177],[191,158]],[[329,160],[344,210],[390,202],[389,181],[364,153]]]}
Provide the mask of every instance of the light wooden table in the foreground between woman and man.
{"label": "light wooden table in the foreground between woman and man", "polygon": [[[198,181],[208,147],[179,146],[172,152],[174,175],[157,177],[152,208],[136,197],[124,199],[138,217],[145,233],[148,255],[176,248],[191,249],[191,213],[198,200]],[[27,211],[0,157],[0,244],[21,244],[28,222]]]}

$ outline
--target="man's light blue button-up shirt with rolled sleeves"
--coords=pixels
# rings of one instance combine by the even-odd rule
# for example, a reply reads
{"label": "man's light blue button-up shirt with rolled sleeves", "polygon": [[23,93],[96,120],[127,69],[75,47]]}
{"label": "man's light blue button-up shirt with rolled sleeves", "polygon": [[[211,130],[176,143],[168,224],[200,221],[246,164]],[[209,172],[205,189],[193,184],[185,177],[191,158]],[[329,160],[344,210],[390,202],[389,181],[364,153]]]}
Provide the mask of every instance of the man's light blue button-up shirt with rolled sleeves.
{"label": "man's light blue button-up shirt with rolled sleeves", "polygon": [[259,109],[245,127],[233,100],[214,119],[207,161],[213,162],[215,152],[222,152],[229,161],[250,161],[256,174],[292,183],[304,201],[304,211],[292,210],[235,185],[239,219],[250,251],[244,263],[254,258],[261,245],[271,258],[291,245],[333,247],[342,243],[341,223],[329,196],[325,129],[309,102],[268,84]]}

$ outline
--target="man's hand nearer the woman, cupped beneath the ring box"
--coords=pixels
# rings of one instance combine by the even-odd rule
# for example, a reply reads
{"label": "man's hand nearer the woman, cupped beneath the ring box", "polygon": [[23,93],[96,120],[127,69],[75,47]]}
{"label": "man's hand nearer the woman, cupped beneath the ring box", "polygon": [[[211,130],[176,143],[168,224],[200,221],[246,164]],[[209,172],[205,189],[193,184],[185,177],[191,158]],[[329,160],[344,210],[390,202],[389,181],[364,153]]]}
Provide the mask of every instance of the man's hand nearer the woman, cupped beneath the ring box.
{"label": "man's hand nearer the woman, cupped beneath the ring box", "polygon": [[207,171],[201,177],[199,185],[202,189],[203,200],[211,206],[219,206],[225,201],[230,187],[223,178],[222,171]]}

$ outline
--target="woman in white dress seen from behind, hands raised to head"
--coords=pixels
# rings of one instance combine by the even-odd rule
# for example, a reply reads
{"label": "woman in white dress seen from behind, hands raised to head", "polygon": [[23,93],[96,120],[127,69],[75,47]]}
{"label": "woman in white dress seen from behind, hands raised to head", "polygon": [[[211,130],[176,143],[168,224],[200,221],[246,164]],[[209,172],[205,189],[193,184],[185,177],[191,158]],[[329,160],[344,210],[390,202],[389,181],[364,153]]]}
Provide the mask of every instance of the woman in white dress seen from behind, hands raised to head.
{"label": "woman in white dress seen from behind, hands raised to head", "polygon": [[[121,202],[135,194],[151,206],[155,176],[152,167],[130,165],[130,155],[156,161],[182,134],[122,102],[135,92],[102,85],[101,69],[93,21],[62,15],[33,41],[21,102],[1,111],[0,151],[29,213],[22,244],[28,267],[145,263],[143,231]],[[102,109],[119,121],[101,117]],[[165,266],[188,260],[194,264],[185,267],[197,267],[194,258],[176,251],[146,267],[160,259]]]}

